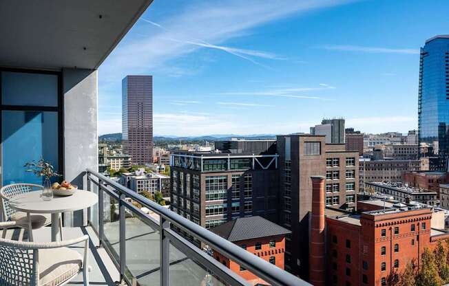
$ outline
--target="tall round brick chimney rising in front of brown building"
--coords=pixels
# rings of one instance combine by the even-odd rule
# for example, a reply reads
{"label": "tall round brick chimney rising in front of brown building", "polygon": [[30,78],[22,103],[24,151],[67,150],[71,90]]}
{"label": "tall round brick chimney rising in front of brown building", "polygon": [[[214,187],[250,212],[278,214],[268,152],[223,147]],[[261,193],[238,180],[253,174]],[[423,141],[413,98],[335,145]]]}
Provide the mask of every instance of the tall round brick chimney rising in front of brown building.
{"label": "tall round brick chimney rising in front of brown building", "polygon": [[315,286],[326,283],[324,257],[324,177],[312,176],[311,246],[309,282]]}

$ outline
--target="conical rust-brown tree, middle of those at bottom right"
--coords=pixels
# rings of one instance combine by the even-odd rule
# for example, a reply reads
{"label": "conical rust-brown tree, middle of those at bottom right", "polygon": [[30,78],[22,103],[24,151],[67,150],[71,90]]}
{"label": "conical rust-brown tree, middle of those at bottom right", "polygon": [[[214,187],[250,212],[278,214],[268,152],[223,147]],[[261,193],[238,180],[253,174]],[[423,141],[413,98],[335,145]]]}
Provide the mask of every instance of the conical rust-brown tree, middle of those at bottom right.
{"label": "conical rust-brown tree, middle of those at bottom right", "polygon": [[441,278],[439,277],[437,263],[435,262],[435,255],[426,248],[421,256],[421,267],[419,267],[417,278],[417,285],[423,286],[439,286],[441,285]]}

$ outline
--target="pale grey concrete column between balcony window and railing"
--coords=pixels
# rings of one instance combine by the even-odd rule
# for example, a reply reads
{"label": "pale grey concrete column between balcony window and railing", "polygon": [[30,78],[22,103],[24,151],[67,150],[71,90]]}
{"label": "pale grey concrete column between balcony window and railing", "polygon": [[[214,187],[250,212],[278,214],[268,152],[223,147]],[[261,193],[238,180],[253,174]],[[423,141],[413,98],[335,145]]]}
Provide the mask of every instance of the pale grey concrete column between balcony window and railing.
{"label": "pale grey concrete column between balcony window and railing", "polygon": [[[63,69],[64,179],[85,186],[86,168],[98,170],[97,71]],[[67,212],[66,226],[87,223],[87,210]]]}

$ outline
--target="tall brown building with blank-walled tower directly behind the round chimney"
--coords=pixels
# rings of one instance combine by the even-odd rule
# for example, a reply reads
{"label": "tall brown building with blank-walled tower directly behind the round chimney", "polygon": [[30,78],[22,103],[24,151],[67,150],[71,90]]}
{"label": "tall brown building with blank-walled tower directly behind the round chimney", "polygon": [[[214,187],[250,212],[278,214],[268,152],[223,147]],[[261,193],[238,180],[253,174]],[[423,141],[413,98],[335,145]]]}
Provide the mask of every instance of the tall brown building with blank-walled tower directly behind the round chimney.
{"label": "tall brown building with blank-walled tower directly behind the round chimney", "polygon": [[292,231],[286,236],[285,270],[307,278],[311,176],[326,177],[326,206],[354,210],[359,155],[344,144],[326,144],[325,135],[280,135],[277,147],[280,224]]}

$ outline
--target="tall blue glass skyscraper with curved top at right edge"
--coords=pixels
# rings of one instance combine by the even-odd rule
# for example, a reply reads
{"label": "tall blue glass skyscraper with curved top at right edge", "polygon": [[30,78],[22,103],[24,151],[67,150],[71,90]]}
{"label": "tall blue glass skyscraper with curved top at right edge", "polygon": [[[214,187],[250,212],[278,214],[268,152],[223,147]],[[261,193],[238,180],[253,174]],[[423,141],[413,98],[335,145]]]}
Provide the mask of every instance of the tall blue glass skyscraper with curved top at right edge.
{"label": "tall blue glass skyscraper with curved top at right edge", "polygon": [[421,48],[418,96],[419,143],[446,170],[449,155],[449,35],[434,36]]}

